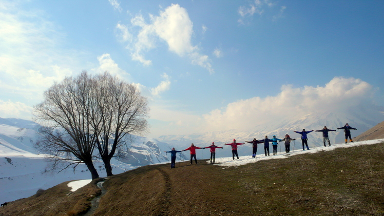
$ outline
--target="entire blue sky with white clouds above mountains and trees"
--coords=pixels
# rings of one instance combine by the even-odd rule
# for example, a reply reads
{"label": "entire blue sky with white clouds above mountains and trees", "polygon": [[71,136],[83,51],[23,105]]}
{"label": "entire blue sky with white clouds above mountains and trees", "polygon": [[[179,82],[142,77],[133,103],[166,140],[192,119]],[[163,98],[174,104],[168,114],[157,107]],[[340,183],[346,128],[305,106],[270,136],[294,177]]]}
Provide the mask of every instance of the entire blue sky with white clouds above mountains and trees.
{"label": "entire blue sky with white clouds above mountains and trees", "polygon": [[[384,106],[383,1],[0,2],[0,117],[108,71],[148,98],[147,137]],[[264,120],[266,121],[266,119]]]}

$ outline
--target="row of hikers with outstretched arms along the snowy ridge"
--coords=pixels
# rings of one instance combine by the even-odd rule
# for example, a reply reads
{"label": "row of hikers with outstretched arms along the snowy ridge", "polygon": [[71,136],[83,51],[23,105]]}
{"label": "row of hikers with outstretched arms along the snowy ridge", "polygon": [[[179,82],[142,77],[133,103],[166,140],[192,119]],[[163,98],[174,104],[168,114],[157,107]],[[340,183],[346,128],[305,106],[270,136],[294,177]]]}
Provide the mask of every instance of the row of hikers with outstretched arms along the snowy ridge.
{"label": "row of hikers with outstretched arms along the snowy ridge", "polygon": [[[348,125],[348,123],[347,123],[347,124],[344,125],[344,127],[339,127],[337,129],[339,129],[339,130],[343,129],[344,130],[345,143],[347,143],[348,138],[350,139],[350,142],[353,143],[353,140],[351,138],[351,131],[350,130],[357,130],[356,128],[350,127]],[[307,150],[310,150],[310,148],[308,146],[308,136],[306,134],[311,133],[313,131],[314,130],[305,131],[305,129],[303,129],[302,131],[294,131],[295,133],[301,134],[301,142],[302,142],[303,151],[305,150],[304,145],[305,145]],[[331,142],[330,142],[329,135],[328,135],[329,131],[336,131],[336,130],[328,129],[327,126],[324,126],[324,128],[321,129],[321,130],[316,130],[316,132],[322,132],[324,146],[327,146],[327,145],[325,145],[325,142],[328,142],[328,145],[331,146]],[[292,139],[290,137],[290,135],[285,134],[285,137],[283,139],[278,139],[274,135],[273,139],[268,139],[268,136],[265,136],[265,139],[263,139],[263,140],[256,140],[256,138],[254,138],[253,141],[245,141],[245,142],[246,143],[252,143],[252,158],[256,158],[257,145],[258,144],[264,144],[265,156],[270,156],[270,142],[272,142],[273,155],[276,155],[277,154],[277,147],[278,147],[277,141],[284,142],[285,153],[289,153],[290,149],[291,149],[291,141],[294,141],[294,140],[296,140],[296,139]],[[237,152],[237,146],[244,145],[244,144],[245,143],[236,143],[236,140],[234,139],[232,143],[227,143],[227,144],[224,144],[224,145],[231,146],[231,148],[232,148],[232,159],[235,160],[235,155],[236,155],[236,158],[239,159],[239,155],[238,155],[238,152]],[[210,149],[210,163],[215,163],[216,149],[217,148],[221,148],[222,149],[223,147],[216,146],[214,142],[212,142],[212,145],[210,145],[208,147],[203,147],[203,148],[197,147],[197,146],[195,146],[192,143],[190,145],[190,147],[188,147],[187,149],[184,149],[182,151],[188,151],[189,150],[190,164],[192,164],[193,159],[195,159],[195,163],[198,164],[197,159],[196,159],[196,149],[206,149],[206,148]],[[176,153],[177,152],[182,152],[182,151],[176,151],[175,148],[172,148],[171,151],[164,151],[164,152],[167,152],[167,153],[171,153],[171,168],[175,168]]]}

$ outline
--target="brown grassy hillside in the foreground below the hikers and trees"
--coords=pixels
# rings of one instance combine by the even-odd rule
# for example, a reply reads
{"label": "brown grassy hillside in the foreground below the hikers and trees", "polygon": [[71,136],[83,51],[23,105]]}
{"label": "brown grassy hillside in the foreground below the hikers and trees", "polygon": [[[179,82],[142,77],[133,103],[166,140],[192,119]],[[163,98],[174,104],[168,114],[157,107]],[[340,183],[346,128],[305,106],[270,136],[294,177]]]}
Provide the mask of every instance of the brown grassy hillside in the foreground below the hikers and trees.
{"label": "brown grassy hillside in the foreground below the hikers and trees", "polygon": [[[144,166],[105,180],[87,215],[384,215],[383,159],[380,143],[239,167]],[[101,194],[96,182],[72,193],[57,185],[0,215],[83,215]]]}

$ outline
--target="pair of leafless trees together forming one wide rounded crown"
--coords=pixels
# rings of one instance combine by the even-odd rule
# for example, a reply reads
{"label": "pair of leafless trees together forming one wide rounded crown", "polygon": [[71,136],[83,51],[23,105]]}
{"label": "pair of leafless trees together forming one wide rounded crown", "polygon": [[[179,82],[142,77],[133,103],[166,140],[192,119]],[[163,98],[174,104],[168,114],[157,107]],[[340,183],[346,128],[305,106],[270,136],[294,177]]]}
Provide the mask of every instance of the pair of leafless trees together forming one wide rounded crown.
{"label": "pair of leafless trees together forming one wide rounded crown", "polygon": [[146,132],[149,111],[146,97],[137,88],[105,72],[90,76],[66,77],[44,92],[45,100],[36,105],[35,119],[42,125],[42,138],[36,147],[53,155],[54,167],[70,161],[73,169],[85,163],[92,179],[99,174],[92,159],[99,150],[107,175],[110,160],[119,156],[130,134]]}

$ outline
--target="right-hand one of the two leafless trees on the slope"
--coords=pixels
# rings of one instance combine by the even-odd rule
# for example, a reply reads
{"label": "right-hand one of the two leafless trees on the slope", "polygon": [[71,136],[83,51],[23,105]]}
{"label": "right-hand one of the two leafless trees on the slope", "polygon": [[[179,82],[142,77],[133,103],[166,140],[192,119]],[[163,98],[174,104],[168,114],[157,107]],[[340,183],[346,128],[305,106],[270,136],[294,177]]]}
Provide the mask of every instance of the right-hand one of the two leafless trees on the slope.
{"label": "right-hand one of the two leafless trees on the slope", "polygon": [[110,160],[120,156],[117,150],[130,134],[146,132],[149,111],[146,97],[137,88],[105,72],[95,77],[97,94],[92,127],[97,134],[97,148],[107,176],[112,175]]}

